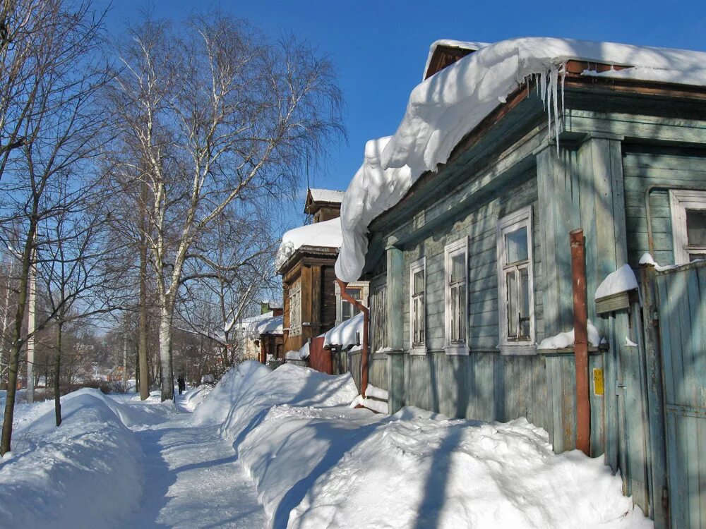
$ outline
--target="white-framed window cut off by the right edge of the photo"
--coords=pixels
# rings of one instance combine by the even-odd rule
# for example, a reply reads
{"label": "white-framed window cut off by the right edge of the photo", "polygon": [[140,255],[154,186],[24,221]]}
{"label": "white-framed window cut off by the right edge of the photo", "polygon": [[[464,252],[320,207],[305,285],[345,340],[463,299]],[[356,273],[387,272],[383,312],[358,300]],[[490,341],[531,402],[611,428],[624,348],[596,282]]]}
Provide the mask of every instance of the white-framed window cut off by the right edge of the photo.
{"label": "white-framed window cut off by the right edge of the photo", "polygon": [[669,191],[674,264],[706,259],[706,191]]}

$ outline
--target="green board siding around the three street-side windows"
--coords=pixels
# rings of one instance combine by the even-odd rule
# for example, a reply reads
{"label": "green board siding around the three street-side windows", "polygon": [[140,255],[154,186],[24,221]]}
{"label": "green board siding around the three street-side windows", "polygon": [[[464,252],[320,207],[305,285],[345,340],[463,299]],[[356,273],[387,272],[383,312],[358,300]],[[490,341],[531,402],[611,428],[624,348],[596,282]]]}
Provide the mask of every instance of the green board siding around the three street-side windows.
{"label": "green board siding around the three street-side windows", "polygon": [[[444,226],[424,241],[405,248],[402,288],[405,292],[402,312],[405,348],[409,348],[409,265],[426,257],[426,332],[429,351],[444,347],[444,246],[468,236],[468,329],[471,351],[497,351],[498,345],[498,273],[496,268],[496,224],[498,219],[522,207],[532,205],[534,215],[534,285],[537,338],[544,337],[542,318],[542,257],[537,202],[537,180],[528,171],[512,190],[486,202],[453,224]],[[438,207],[443,208],[443,204]],[[430,216],[433,212],[427,212]]]}

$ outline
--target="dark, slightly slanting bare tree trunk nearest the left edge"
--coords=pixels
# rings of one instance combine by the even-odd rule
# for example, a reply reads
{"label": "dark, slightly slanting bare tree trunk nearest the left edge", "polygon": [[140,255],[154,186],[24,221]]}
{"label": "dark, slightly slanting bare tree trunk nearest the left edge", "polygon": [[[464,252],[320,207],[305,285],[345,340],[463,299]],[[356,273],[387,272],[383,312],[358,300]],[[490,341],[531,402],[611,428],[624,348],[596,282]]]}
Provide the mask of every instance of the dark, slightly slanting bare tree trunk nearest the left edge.
{"label": "dark, slightly slanting bare tree trunk nearest the left edge", "polygon": [[12,330],[12,344],[10,348],[10,358],[7,374],[7,395],[5,400],[5,413],[2,424],[2,437],[0,439],[0,456],[4,456],[12,444],[12,421],[15,414],[15,396],[17,393],[17,372],[20,365],[20,349],[22,348],[22,323],[25,319],[25,304],[27,303],[27,284],[30,273],[30,254],[32,253],[32,241],[35,238],[37,220],[38,201],[33,204],[32,215],[30,216],[30,226],[25,241],[25,248],[22,254],[22,268],[20,269],[19,296],[17,300],[17,310],[15,312],[15,325]]}

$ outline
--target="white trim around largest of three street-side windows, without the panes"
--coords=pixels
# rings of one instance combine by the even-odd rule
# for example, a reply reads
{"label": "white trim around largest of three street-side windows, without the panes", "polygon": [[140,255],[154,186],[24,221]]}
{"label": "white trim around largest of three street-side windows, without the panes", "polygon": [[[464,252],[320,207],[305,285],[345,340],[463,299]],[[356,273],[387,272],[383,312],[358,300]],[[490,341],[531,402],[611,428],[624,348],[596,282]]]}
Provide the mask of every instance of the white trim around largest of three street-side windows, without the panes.
{"label": "white trim around largest of three street-side windows, without the panes", "polygon": [[[505,287],[505,233],[527,226],[527,269],[530,283],[530,339],[527,341],[508,341],[506,332],[508,321],[508,298]],[[498,269],[498,334],[500,341],[498,348],[503,355],[532,355],[536,353],[536,321],[534,318],[534,233],[532,231],[532,206],[523,207],[516,212],[498,220],[496,231],[496,261]]]}

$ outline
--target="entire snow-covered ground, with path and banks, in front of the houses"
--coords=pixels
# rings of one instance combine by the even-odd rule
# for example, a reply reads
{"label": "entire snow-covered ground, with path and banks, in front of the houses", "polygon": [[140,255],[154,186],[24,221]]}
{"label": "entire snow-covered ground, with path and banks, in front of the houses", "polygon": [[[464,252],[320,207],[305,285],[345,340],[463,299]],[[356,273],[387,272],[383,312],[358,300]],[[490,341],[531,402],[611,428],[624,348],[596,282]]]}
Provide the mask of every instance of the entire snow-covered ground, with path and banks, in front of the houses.
{"label": "entire snow-covered ground, with path and banks, in front of the houses", "polygon": [[52,403],[19,406],[0,525],[652,526],[602,458],[556,455],[524,419],[388,416],[356,396],[349,375],[246,362],[176,405],[76,391],[59,428]]}

